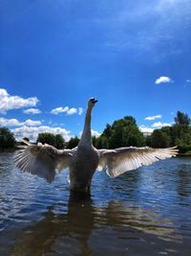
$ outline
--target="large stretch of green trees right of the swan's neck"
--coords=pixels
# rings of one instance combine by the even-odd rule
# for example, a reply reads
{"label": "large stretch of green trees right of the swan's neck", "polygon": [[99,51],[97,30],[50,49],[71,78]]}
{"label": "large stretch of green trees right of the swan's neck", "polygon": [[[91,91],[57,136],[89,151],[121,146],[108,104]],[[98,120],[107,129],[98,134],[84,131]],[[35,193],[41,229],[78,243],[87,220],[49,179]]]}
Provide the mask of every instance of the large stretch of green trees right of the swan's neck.
{"label": "large stretch of green trees right of the swan's neck", "polygon": [[191,153],[191,119],[178,111],[171,127],[155,129],[151,135],[143,136],[132,116],[107,124],[98,138],[93,138],[96,148],[114,149],[119,147],[168,148],[178,146],[180,153]]}

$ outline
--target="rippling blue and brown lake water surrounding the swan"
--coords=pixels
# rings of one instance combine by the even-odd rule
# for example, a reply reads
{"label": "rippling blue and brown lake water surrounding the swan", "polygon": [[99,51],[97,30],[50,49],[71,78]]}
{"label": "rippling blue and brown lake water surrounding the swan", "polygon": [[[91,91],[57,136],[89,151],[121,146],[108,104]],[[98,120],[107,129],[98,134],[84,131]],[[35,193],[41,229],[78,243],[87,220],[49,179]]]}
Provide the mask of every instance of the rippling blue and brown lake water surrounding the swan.
{"label": "rippling blue and brown lake water surrounding the swan", "polygon": [[0,153],[0,255],[191,255],[191,158],[97,172],[91,198],[67,176],[48,184]]}

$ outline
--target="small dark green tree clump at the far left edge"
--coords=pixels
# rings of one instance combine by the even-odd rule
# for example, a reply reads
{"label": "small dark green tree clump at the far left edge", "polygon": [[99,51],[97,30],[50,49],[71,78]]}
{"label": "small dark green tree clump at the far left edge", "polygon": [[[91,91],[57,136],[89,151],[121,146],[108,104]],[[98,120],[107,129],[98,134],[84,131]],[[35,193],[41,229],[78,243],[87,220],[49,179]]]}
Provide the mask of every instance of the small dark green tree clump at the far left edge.
{"label": "small dark green tree clump at the far left edge", "polygon": [[16,140],[9,128],[0,128],[0,149],[9,150],[14,148]]}

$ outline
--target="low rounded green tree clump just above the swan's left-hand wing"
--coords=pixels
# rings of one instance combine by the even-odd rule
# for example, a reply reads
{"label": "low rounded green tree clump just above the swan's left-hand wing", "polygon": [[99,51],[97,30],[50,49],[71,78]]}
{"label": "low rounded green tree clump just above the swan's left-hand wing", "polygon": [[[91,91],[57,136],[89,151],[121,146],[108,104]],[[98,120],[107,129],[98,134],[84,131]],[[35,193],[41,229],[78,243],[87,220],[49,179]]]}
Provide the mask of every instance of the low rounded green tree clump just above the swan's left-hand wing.
{"label": "low rounded green tree clump just above the swan's left-hand wing", "polygon": [[56,149],[63,149],[65,147],[65,140],[60,134],[53,134],[50,132],[42,132],[38,134],[36,142],[41,142],[42,144],[49,144]]}

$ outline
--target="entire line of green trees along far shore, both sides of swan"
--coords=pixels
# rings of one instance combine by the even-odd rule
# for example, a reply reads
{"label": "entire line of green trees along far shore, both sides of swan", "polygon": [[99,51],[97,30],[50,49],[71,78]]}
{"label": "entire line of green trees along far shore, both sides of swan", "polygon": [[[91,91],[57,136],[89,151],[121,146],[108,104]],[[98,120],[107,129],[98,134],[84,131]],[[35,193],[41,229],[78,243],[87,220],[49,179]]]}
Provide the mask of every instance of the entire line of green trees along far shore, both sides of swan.
{"label": "entire line of green trees along far shore, both sides of swan", "polygon": [[[28,138],[25,138],[29,140]],[[43,132],[38,134],[36,143],[47,143],[57,149],[73,149],[79,138],[72,137],[68,142],[60,134]],[[136,119],[125,116],[116,120],[112,125],[107,124],[99,137],[93,137],[97,149],[115,149],[119,147],[167,148],[178,146],[180,152],[191,152],[191,120],[187,114],[178,111],[175,123],[171,127],[155,129],[151,135],[143,136]],[[0,128],[0,149],[11,149],[16,146],[13,133],[8,128]]]}

